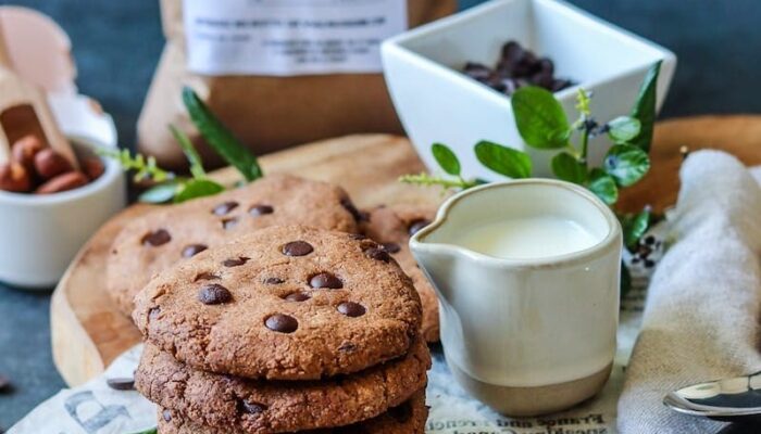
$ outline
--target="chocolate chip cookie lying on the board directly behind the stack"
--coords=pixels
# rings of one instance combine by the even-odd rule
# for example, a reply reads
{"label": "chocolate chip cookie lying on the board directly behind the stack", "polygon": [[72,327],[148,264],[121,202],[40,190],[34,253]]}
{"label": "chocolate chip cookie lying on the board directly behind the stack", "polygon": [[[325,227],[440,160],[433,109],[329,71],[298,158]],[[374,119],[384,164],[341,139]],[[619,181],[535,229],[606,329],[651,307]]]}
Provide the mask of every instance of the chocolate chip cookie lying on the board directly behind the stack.
{"label": "chocolate chip cookie lying on the board directly behind the stack", "polygon": [[167,205],[130,221],[108,257],[107,288],[120,310],[130,315],[133,298],[150,278],[205,248],[274,225],[303,225],[357,231],[361,218],[338,187],[270,175],[211,197]]}

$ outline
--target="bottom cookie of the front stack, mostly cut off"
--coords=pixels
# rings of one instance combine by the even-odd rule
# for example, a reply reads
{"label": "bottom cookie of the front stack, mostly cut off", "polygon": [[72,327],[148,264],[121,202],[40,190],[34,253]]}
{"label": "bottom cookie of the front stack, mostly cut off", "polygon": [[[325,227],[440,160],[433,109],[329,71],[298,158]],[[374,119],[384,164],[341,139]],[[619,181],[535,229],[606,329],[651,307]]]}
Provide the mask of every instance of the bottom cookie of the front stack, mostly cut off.
{"label": "bottom cookie of the front stack, mostly cut off", "polygon": [[[159,408],[159,434],[220,434],[220,430],[197,424],[180,412]],[[416,392],[402,405],[387,412],[352,425],[333,429],[302,431],[303,434],[424,434],[428,408],[425,391]],[[249,434],[250,432],[226,429],[225,434]]]}

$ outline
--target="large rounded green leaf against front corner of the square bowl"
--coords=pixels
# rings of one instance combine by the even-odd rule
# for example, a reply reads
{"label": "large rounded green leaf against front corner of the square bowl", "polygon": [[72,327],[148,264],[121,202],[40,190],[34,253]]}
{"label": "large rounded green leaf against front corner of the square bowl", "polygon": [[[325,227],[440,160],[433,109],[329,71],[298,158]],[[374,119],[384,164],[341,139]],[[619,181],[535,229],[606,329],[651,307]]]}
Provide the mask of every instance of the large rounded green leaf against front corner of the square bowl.
{"label": "large rounded green leaf against front corner of the square bowl", "polygon": [[565,112],[549,90],[527,86],[511,98],[515,125],[533,148],[560,149],[567,144],[571,127]]}

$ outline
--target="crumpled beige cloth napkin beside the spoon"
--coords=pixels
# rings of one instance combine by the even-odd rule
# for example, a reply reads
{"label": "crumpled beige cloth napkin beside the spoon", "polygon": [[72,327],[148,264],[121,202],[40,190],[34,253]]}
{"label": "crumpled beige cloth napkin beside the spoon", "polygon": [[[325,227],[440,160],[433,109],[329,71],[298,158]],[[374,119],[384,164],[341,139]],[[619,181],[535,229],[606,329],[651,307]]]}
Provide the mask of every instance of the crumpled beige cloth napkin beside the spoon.
{"label": "crumpled beige cloth napkin beside the spoon", "polygon": [[622,434],[716,432],[724,424],[673,412],[663,396],[761,370],[761,188],[718,151],[691,154],[681,177],[669,216],[675,243],[650,283],[619,400]]}

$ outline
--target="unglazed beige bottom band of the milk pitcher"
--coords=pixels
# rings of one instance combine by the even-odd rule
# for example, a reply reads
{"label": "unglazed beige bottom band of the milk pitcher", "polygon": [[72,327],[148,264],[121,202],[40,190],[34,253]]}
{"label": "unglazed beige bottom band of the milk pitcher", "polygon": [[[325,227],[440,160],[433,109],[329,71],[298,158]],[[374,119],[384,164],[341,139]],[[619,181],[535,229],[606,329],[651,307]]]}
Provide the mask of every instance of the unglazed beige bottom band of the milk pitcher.
{"label": "unglazed beige bottom band of the milk pitcher", "polygon": [[565,410],[591,398],[608,381],[613,365],[583,379],[539,387],[496,386],[481,382],[448,363],[458,383],[474,398],[512,417],[538,416]]}

